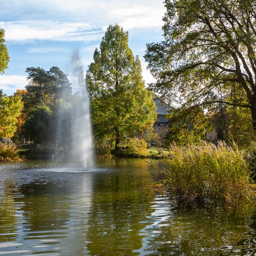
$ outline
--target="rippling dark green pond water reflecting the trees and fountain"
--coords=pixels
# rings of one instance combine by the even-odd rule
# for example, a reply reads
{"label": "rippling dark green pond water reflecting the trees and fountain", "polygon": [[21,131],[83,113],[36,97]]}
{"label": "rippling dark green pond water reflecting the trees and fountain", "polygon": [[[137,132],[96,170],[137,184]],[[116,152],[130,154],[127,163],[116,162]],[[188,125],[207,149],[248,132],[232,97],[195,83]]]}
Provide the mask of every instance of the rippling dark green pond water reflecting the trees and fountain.
{"label": "rippling dark green pond water reflecting the trees and fountain", "polygon": [[256,255],[256,210],[181,208],[145,159],[0,165],[0,255]]}

